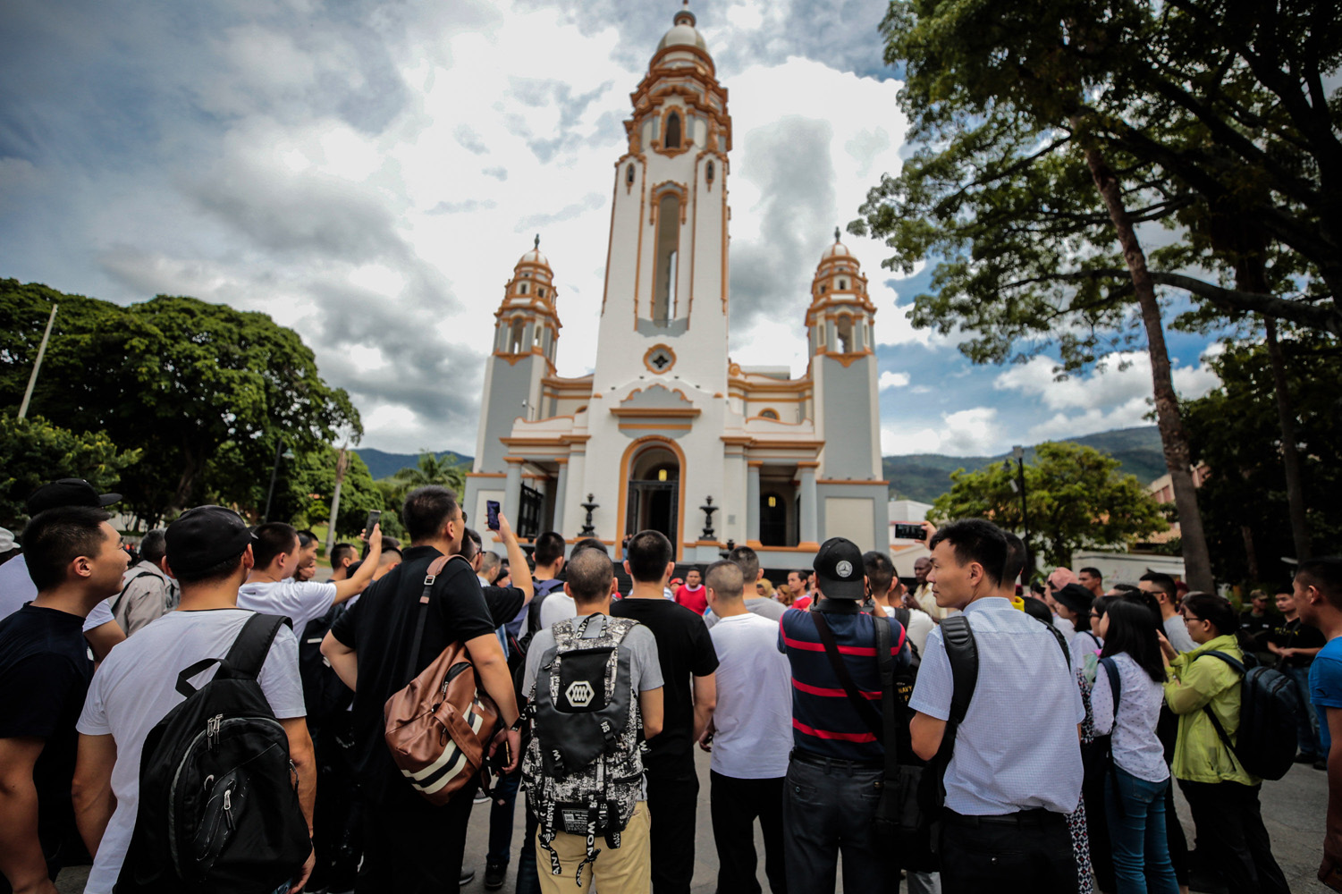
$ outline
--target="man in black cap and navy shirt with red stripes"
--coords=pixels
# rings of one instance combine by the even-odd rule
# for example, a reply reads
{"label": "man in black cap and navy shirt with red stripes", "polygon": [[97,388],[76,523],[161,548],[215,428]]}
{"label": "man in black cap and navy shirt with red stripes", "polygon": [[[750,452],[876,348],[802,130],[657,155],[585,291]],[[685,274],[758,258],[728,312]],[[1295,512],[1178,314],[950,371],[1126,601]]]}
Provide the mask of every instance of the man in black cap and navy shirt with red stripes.
{"label": "man in black cap and navy shirt with red stripes", "polygon": [[[863,611],[862,550],[843,537],[820,545],[816,600],[792,608],[778,651],[792,666],[792,757],[782,788],[788,886],[833,891],[843,851],[844,890],[890,890],[898,867],[876,834],[884,787],[882,651],[898,673],[910,659],[905,628]],[[888,643],[883,648],[882,643]]]}

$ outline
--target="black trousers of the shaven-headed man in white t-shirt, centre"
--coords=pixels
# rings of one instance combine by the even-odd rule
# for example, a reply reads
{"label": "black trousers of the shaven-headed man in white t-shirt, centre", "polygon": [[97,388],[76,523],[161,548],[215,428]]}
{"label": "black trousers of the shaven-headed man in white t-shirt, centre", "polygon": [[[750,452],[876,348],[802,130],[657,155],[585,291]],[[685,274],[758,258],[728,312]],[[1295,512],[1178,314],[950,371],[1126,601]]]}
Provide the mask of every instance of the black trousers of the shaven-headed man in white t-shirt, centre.
{"label": "black trousers of the shaven-headed man in white t-shirt, centre", "polygon": [[718,894],[761,894],[756,881],[754,822],[764,832],[764,871],[773,894],[788,894],[782,863],[782,780],[709,773]]}

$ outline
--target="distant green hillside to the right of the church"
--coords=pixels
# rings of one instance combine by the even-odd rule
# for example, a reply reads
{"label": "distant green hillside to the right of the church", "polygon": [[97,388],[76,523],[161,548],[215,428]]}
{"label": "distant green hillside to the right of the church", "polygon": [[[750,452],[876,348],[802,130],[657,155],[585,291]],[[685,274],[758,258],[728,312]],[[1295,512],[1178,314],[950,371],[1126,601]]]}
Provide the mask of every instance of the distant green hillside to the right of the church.
{"label": "distant green hillside to the right of the church", "polygon": [[[1137,475],[1143,485],[1165,474],[1165,455],[1161,452],[1161,434],[1155,426],[1119,428],[1084,438],[1062,440],[1084,444],[1103,451],[1123,463],[1125,474]],[[909,454],[883,456],[882,470],[890,482],[890,495],[930,503],[950,489],[950,473],[957,468],[973,471],[989,463],[1000,463],[1009,454],[998,456],[943,456],[941,454]],[[1035,456],[1035,448],[1025,448],[1025,462]]]}

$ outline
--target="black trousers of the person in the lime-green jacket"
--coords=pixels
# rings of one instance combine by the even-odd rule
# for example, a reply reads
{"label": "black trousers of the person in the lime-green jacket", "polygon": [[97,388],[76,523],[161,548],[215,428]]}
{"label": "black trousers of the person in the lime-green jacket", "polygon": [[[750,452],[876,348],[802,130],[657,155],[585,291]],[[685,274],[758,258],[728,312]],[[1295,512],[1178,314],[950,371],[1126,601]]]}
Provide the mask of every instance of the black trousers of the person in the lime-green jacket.
{"label": "black trousers of the person in the lime-green jacket", "polygon": [[1261,785],[1178,781],[1197,824],[1197,852],[1231,894],[1288,894],[1259,805]]}

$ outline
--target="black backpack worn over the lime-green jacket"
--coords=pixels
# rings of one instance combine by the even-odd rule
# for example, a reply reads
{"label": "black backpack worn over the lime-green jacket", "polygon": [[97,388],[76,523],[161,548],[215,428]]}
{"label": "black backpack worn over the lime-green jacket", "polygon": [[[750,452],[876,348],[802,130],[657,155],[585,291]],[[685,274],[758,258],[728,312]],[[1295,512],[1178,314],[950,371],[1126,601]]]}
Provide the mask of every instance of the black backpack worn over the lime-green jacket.
{"label": "black backpack worn over the lime-green jacket", "polygon": [[[1290,677],[1271,667],[1245,667],[1225,652],[1215,655],[1235,668],[1240,683],[1239,741],[1232,742],[1221,721],[1216,719],[1210,705],[1204,705],[1208,719],[1216,728],[1221,744],[1245,772],[1260,779],[1282,779],[1295,761],[1295,718],[1300,713],[1300,699]],[[1198,658],[1202,658],[1198,655]]]}

